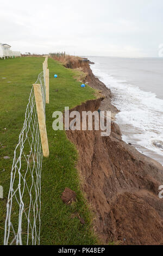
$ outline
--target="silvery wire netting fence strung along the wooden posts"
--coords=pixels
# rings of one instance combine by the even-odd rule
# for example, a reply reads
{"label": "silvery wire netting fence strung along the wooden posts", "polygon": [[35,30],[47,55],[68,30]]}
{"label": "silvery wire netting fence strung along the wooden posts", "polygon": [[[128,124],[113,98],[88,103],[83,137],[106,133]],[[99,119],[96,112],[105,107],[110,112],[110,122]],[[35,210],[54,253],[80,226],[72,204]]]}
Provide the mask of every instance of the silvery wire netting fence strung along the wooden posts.
{"label": "silvery wire netting fence strung along the wooden posts", "polygon": [[[45,72],[41,84],[45,112]],[[14,151],[5,220],[4,245],[39,245],[42,146],[34,88],[29,95],[23,129]]]}

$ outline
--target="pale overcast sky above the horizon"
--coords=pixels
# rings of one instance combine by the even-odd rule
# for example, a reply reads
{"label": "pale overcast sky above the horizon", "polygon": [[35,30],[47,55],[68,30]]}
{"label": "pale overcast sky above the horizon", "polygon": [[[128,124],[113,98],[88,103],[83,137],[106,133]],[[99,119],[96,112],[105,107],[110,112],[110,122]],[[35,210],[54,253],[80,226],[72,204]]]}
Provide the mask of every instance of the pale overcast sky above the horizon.
{"label": "pale overcast sky above the horizon", "polygon": [[158,57],[162,0],[0,0],[0,42],[22,53]]}

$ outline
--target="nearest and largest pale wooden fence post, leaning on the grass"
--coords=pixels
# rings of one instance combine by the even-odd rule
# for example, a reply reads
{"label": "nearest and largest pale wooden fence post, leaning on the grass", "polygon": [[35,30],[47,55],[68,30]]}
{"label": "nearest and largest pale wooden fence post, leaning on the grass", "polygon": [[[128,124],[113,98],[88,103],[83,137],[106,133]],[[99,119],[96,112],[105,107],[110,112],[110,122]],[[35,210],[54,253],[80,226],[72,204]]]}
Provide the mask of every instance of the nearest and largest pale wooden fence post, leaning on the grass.
{"label": "nearest and largest pale wooden fence post, leaning on the grass", "polygon": [[40,130],[40,136],[41,136],[43,156],[48,157],[49,146],[48,146],[48,139],[47,139],[45,114],[43,110],[41,85],[33,84],[33,87],[34,87],[34,94],[35,94],[35,101],[36,101],[37,117],[39,120],[39,130]]}

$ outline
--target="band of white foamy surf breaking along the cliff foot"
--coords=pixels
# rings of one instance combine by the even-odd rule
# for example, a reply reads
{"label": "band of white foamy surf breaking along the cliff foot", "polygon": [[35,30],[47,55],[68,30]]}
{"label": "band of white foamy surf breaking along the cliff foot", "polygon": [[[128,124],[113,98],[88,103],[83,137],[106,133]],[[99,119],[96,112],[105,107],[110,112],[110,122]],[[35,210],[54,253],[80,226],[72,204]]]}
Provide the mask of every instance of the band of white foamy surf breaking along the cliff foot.
{"label": "band of white foamy surf breaking along the cliff foot", "polygon": [[121,111],[116,115],[127,143],[163,164],[163,100],[144,92],[125,80],[118,80],[91,65],[93,74],[111,89],[112,103]]}

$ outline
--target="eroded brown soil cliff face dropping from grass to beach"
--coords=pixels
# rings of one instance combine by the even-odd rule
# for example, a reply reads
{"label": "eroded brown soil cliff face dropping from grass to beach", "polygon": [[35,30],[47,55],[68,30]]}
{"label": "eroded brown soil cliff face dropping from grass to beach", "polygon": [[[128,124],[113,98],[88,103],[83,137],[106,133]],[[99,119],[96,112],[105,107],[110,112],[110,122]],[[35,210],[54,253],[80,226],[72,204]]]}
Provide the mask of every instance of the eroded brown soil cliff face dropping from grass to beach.
{"label": "eroded brown soil cliff face dropping from grass to beach", "polygon": [[[93,76],[89,64],[77,60],[68,68],[82,66],[86,81],[102,91],[105,99],[90,100],[72,110],[117,109],[111,105],[111,92]],[[82,120],[81,120],[82,121]],[[95,212],[94,229],[104,244],[119,241],[123,245],[163,244],[163,168],[140,154],[121,139],[118,125],[111,122],[111,135],[101,131],[66,131],[78,149],[78,170],[83,191]]]}

